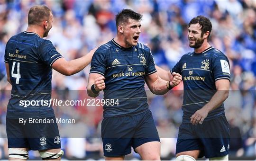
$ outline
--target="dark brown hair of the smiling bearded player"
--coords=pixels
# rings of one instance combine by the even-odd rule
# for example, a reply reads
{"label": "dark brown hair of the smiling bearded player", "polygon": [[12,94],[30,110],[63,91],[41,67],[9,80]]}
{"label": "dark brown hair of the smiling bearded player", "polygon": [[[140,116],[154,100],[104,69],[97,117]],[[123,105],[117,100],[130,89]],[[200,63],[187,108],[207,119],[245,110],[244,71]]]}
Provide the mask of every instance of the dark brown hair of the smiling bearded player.
{"label": "dark brown hair of the smiling bearded player", "polygon": [[[197,24],[197,23],[201,25],[201,31],[202,31],[201,36],[203,36],[203,34],[206,33],[206,31],[211,32],[212,25],[209,18],[204,16],[197,16],[196,18],[192,18],[192,20],[189,22],[188,27],[190,27],[191,24]],[[210,34],[207,37],[207,40],[209,39],[209,37],[210,37]]]}

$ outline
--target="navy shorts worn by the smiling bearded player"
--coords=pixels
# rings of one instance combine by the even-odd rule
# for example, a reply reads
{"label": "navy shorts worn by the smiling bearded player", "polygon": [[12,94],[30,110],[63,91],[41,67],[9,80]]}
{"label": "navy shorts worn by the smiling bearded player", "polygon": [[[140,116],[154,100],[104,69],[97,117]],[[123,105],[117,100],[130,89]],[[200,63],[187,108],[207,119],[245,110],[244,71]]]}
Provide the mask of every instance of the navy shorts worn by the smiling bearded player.
{"label": "navy shorts worn by the smiling bearded player", "polygon": [[229,123],[219,116],[202,124],[182,123],[179,128],[176,154],[200,150],[199,158],[221,157],[229,154]]}

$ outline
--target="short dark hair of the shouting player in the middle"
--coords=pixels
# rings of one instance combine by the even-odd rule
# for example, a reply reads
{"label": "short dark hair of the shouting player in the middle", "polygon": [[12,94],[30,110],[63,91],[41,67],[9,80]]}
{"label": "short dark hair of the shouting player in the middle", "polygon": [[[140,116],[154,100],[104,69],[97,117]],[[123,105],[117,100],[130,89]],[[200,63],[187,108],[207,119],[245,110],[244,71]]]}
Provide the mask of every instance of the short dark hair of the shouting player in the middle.
{"label": "short dark hair of the shouting player in the middle", "polygon": [[129,18],[141,21],[142,15],[131,9],[123,9],[116,15],[116,26],[118,27],[120,24],[128,22]]}

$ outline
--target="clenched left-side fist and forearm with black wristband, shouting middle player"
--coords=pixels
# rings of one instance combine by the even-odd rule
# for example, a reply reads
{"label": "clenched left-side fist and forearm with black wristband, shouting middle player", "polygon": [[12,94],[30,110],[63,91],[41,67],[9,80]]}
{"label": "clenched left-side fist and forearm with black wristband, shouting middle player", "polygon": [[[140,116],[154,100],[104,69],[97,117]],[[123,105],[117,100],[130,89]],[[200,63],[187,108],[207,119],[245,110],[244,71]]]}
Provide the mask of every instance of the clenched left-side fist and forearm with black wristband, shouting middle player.
{"label": "clenched left-side fist and forearm with black wristband, shouting middle player", "polygon": [[100,91],[105,89],[105,77],[98,73],[90,73],[87,85],[87,94],[90,97],[97,97]]}

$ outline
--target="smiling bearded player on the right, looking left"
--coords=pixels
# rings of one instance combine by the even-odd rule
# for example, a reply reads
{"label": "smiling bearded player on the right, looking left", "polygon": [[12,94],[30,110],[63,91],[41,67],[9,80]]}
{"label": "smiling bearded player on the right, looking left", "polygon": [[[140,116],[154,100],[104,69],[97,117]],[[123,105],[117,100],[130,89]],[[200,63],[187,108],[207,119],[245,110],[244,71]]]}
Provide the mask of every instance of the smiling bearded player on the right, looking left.
{"label": "smiling bearded player on the right, looking left", "polygon": [[209,18],[192,18],[188,39],[194,51],[184,54],[170,72],[156,67],[165,80],[172,79],[174,72],[183,77],[183,123],[176,144],[178,161],[203,156],[210,160],[229,159],[229,123],[223,104],[229,96],[229,60],[209,44],[211,28]]}

